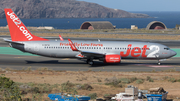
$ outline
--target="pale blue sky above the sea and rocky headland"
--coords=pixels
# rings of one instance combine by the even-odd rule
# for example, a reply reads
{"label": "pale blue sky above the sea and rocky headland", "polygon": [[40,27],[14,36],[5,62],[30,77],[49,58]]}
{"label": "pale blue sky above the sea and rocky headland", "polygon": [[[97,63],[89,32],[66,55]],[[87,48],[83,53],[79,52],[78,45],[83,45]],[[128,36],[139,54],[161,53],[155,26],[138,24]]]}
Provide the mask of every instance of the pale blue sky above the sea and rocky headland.
{"label": "pale blue sky above the sea and rocky headland", "polygon": [[180,0],[77,0],[125,11],[180,11]]}

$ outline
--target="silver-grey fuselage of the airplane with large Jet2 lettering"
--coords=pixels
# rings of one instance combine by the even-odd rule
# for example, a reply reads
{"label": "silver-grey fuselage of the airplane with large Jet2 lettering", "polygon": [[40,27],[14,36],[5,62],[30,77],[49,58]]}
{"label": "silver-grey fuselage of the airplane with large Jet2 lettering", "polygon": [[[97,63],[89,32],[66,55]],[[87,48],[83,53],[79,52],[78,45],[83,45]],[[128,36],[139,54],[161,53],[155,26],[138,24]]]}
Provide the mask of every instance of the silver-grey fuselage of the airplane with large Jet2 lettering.
{"label": "silver-grey fuselage of the airplane with large Jet2 lettering", "polygon": [[[25,41],[24,51],[47,57],[75,58],[80,54],[72,51],[68,41]],[[119,54],[122,59],[166,59],[176,53],[167,46],[134,41],[73,41],[77,49],[100,54]],[[16,47],[14,47],[16,48]]]}

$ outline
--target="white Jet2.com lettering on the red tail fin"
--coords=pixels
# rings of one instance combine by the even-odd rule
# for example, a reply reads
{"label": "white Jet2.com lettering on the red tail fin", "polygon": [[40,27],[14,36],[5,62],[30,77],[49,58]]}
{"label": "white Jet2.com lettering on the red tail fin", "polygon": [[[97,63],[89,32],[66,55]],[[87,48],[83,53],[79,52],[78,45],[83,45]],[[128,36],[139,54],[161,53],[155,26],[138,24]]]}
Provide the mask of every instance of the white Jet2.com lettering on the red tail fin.
{"label": "white Jet2.com lettering on the red tail fin", "polygon": [[14,14],[14,12],[12,12],[12,13],[7,12],[7,15],[10,16],[10,19],[12,19],[12,21],[16,24],[16,26],[19,28],[19,30],[25,35],[25,37],[28,40],[33,39],[31,34],[28,32],[28,30],[26,30],[26,28],[22,24],[21,20],[19,20],[19,18]]}

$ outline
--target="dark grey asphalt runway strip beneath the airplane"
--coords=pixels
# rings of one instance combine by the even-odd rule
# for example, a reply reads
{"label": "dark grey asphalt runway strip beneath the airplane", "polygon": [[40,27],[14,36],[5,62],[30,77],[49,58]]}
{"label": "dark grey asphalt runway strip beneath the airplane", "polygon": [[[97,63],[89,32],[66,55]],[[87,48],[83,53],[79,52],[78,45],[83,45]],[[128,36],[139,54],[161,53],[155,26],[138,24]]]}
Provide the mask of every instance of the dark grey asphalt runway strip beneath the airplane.
{"label": "dark grey asphalt runway strip beneath the airplane", "polygon": [[[165,43],[169,47],[179,47],[179,43],[174,41],[159,41]],[[0,39],[0,47],[8,47],[8,44]],[[48,68],[56,71],[163,71],[176,70],[180,71],[180,58],[170,58],[162,61],[161,65],[157,65],[155,60],[122,60],[119,64],[104,64],[95,61],[93,66],[86,64],[85,61],[69,58],[48,58],[42,56],[26,56],[26,55],[3,55],[0,54],[0,68],[12,68],[17,70],[31,68],[33,70],[39,68]]]}

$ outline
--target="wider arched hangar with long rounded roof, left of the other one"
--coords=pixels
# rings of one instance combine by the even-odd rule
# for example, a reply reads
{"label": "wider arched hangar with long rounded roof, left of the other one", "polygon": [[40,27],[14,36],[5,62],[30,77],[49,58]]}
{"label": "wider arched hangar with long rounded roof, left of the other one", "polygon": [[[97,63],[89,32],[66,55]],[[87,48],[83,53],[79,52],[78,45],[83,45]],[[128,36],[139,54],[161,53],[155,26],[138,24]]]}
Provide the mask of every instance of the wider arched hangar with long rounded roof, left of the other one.
{"label": "wider arched hangar with long rounded roof, left of the other one", "polygon": [[81,25],[80,29],[88,29],[88,30],[115,29],[115,27],[109,21],[92,21],[92,22],[84,22]]}

